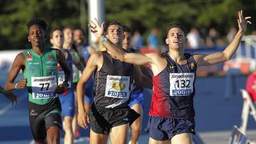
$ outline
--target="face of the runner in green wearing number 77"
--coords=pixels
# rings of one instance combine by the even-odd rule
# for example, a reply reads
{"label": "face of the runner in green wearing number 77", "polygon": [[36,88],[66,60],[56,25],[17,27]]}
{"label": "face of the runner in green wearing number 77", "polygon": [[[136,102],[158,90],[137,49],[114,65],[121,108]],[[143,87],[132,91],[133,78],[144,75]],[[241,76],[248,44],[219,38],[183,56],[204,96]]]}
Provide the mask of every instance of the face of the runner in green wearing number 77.
{"label": "face of the runner in green wearing number 77", "polygon": [[32,25],[28,29],[28,42],[32,47],[41,47],[46,43],[46,32],[38,25]]}

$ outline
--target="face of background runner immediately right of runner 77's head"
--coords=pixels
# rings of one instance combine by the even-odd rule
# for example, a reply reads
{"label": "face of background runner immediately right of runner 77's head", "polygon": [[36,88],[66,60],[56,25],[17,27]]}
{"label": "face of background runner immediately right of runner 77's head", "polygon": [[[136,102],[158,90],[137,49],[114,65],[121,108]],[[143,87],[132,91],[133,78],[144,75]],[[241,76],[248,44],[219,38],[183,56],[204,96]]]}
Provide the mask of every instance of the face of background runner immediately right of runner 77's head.
{"label": "face of background runner immediately right of runner 77's head", "polygon": [[53,48],[62,48],[64,43],[63,32],[60,30],[53,31],[53,38],[50,38]]}

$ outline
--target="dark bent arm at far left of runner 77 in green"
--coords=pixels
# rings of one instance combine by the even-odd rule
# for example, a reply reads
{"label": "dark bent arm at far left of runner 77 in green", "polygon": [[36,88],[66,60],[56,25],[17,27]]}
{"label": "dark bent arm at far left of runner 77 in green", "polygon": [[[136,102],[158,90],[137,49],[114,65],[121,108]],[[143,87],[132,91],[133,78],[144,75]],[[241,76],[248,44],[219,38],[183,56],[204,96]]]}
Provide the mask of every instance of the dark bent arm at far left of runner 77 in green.
{"label": "dark bent arm at far left of runner 77 in green", "polygon": [[14,84],[14,80],[16,79],[18,72],[20,70],[25,70],[25,56],[23,55],[23,53],[19,53],[15,59],[14,59],[14,63],[11,67],[11,70],[9,71],[9,75],[6,79],[6,84],[5,84],[5,89],[6,91],[11,91],[13,89],[15,89],[15,84]]}

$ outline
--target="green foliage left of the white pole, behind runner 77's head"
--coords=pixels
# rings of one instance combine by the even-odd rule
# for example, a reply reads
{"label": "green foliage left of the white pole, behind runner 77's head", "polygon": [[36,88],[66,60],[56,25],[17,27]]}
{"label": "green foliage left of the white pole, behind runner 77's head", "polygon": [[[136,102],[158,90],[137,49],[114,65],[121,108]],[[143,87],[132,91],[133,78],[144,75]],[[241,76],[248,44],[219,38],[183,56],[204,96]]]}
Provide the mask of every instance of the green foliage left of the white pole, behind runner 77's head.
{"label": "green foliage left of the white pole, behind runner 77's head", "polygon": [[31,18],[42,18],[48,24],[48,33],[53,28],[80,26],[79,1],[64,0],[9,0],[1,1],[0,48],[28,48],[26,23]]}

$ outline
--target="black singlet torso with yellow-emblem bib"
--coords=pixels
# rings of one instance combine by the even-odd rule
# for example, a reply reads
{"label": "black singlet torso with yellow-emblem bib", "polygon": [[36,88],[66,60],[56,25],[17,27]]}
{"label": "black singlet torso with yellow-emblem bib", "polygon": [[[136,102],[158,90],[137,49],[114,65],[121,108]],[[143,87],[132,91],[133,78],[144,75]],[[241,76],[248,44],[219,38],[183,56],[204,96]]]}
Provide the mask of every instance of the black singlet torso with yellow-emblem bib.
{"label": "black singlet torso with yellow-emblem bib", "polygon": [[102,52],[103,65],[95,72],[95,104],[106,108],[124,107],[129,104],[133,65],[113,59]]}

